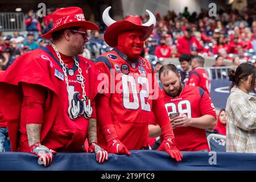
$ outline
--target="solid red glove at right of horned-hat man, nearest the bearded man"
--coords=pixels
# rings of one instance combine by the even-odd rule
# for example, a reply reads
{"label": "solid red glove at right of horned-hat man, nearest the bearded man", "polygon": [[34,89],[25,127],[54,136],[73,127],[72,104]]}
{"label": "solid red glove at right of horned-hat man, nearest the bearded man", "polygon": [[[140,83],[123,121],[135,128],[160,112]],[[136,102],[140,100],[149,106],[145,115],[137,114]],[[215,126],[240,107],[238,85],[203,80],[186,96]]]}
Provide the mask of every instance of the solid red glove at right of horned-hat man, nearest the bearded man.
{"label": "solid red glove at right of horned-hat man, nearest the bearded man", "polygon": [[171,125],[166,125],[162,127],[163,142],[160,144],[158,151],[167,152],[172,159],[176,159],[177,162],[181,161],[183,155],[176,147],[174,140],[174,134],[172,133]]}

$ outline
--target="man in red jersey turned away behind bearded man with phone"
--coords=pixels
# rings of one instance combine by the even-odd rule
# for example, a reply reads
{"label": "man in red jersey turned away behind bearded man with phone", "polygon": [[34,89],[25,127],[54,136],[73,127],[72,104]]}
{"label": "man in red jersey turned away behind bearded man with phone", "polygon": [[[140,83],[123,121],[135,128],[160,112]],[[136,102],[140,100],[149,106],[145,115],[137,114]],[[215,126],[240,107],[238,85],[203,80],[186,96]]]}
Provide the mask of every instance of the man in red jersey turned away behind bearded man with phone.
{"label": "man in red jersey turned away behind bearded man with phone", "polygon": [[210,94],[210,80],[204,68],[204,58],[201,56],[194,56],[191,59],[192,71],[186,82],[187,85],[200,86],[208,94]]}

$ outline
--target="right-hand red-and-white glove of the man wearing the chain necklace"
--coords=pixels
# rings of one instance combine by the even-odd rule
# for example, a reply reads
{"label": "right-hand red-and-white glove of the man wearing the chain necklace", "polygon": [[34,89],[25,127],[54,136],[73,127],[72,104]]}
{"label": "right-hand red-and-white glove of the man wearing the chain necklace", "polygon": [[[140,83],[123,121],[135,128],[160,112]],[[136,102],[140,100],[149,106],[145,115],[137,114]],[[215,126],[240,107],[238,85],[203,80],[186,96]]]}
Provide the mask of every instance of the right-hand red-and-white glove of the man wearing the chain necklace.
{"label": "right-hand red-and-white glove of the man wearing the chain necklace", "polygon": [[93,142],[92,144],[90,144],[88,151],[90,153],[92,153],[93,151],[95,152],[96,160],[100,164],[104,163],[105,160],[109,159],[108,152],[105,151],[100,146],[98,146],[98,144],[96,142]]}

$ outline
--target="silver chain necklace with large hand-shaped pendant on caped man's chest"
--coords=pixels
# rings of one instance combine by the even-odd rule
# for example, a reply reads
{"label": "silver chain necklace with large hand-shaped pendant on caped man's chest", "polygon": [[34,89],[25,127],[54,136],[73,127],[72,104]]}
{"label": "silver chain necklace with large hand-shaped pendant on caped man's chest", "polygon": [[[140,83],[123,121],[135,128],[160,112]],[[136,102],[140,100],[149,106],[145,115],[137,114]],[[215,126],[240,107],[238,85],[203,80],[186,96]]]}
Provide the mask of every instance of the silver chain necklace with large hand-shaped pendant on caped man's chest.
{"label": "silver chain necklace with large hand-shaped pendant on caped man's chest", "polygon": [[[65,68],[64,62],[61,59],[60,53],[57,50],[56,46],[51,43],[52,48],[56,52],[57,57],[60,60],[60,64],[62,66],[62,70],[64,72],[64,78],[67,85],[67,92],[68,92],[68,101],[69,101],[69,107],[68,107],[68,114],[69,118],[76,119],[78,116],[81,116],[84,114],[85,118],[90,118],[92,116],[92,107],[90,106],[90,98],[86,97],[85,88],[84,88],[84,77],[82,76],[82,69],[79,67],[79,62],[76,60],[76,57],[73,56],[73,60],[75,61],[75,64],[78,68],[79,74],[80,74],[80,81],[81,81],[81,88],[82,88],[82,100],[78,98],[80,95],[79,92],[71,92],[71,89],[69,87],[68,82],[68,75],[67,75],[67,69]],[[86,104],[87,102],[87,104]]]}

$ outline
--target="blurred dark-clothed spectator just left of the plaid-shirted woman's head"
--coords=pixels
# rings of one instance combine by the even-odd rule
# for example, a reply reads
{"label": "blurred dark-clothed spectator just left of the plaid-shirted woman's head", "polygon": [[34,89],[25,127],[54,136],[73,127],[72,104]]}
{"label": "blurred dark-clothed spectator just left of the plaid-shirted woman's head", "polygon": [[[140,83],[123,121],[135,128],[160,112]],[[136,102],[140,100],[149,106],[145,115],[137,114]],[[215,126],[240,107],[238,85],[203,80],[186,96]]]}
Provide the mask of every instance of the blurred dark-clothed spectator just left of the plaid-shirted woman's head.
{"label": "blurred dark-clothed spectator just left of the plaid-shirted woman's head", "polygon": [[[215,59],[215,64],[212,65],[212,67],[226,67],[226,65],[223,64],[223,60],[224,58],[221,55],[217,56]],[[226,77],[227,74],[225,69],[212,69],[212,79],[226,79]]]}

